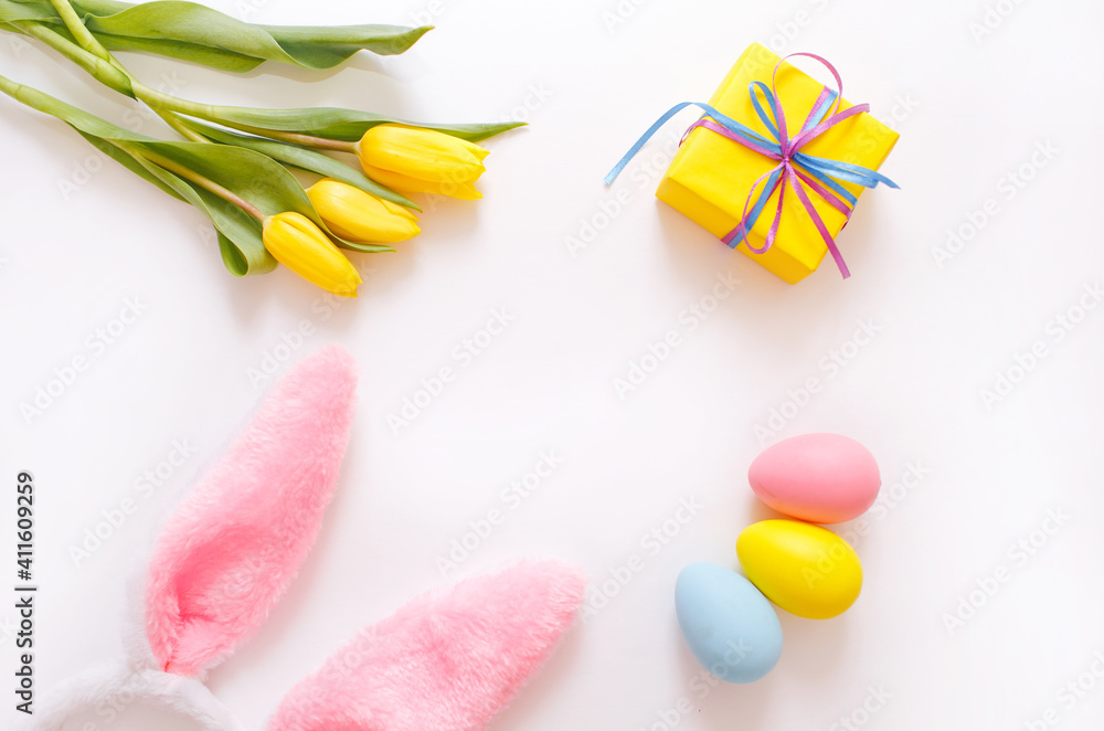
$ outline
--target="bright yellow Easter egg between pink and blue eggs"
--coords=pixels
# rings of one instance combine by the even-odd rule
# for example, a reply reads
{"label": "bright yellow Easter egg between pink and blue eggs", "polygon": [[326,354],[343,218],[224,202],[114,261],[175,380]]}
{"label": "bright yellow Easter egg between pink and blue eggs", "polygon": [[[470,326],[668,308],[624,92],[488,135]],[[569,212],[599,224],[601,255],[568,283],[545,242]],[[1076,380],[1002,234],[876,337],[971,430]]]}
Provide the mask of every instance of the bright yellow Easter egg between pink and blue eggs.
{"label": "bright yellow Easter egg between pink and blue eggs", "polygon": [[790,614],[828,619],[842,614],[862,590],[854,549],[827,528],[798,520],[763,520],[736,539],[744,573]]}

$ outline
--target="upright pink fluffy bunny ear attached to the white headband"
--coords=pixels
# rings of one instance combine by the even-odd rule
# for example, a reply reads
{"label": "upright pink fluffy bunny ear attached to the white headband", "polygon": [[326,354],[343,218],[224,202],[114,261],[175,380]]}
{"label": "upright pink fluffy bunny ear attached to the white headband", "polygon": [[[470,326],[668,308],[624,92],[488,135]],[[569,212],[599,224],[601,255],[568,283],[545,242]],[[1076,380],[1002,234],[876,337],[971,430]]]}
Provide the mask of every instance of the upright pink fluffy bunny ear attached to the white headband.
{"label": "upright pink fluffy bunny ear attached to the white headband", "polygon": [[200,675],[225,659],[284,594],[337,481],[355,386],[337,346],[301,361],[169,519],[146,587],[161,670]]}

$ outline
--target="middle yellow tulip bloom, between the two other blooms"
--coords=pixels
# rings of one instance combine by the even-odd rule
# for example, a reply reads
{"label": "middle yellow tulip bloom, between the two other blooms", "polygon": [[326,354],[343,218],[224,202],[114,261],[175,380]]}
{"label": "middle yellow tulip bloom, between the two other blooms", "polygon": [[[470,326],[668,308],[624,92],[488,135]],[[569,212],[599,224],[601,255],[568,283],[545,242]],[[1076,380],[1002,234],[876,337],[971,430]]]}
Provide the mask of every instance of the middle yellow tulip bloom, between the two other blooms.
{"label": "middle yellow tulip bloom, between the two other blooms", "polygon": [[307,195],[330,231],[349,241],[393,244],[421,232],[408,209],[338,180],[319,180]]}

